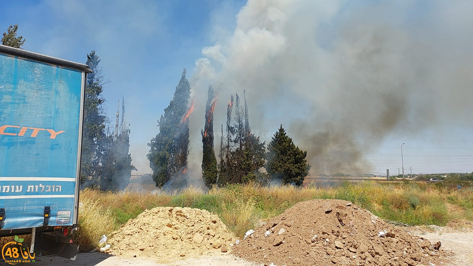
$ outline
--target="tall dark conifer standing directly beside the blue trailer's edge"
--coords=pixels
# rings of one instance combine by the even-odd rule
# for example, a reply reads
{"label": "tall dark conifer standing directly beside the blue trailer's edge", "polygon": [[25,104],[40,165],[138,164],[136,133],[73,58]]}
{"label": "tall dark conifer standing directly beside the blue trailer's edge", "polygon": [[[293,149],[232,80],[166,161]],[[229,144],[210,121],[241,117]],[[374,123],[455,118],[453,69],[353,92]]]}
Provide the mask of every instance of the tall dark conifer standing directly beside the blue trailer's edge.
{"label": "tall dark conifer standing directly beside the blue trailer's edge", "polygon": [[84,108],[84,129],[82,134],[82,156],[80,167],[80,181],[85,186],[99,184],[101,175],[101,161],[103,154],[110,145],[105,134],[105,124],[108,122],[106,109],[103,106],[105,99],[101,93],[104,81],[102,68],[99,67],[100,59],[95,50],[87,55],[86,64],[93,71],[87,75],[86,99]]}

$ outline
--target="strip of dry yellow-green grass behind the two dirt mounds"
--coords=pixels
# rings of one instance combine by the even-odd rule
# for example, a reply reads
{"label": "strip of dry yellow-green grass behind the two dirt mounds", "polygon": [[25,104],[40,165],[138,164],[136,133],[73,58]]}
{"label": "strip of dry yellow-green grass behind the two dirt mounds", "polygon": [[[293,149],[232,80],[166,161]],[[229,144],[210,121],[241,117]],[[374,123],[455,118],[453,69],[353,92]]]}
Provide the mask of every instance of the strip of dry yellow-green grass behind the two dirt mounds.
{"label": "strip of dry yellow-green grass behind the two dirt mounds", "polygon": [[[348,183],[338,187],[298,188],[231,185],[207,193],[190,187],[172,195],[140,192],[81,191],[78,236],[83,249],[95,248],[103,234],[109,234],[145,209],[180,206],[206,209],[219,215],[238,237],[254,229],[261,220],[284,212],[297,202],[310,199],[343,199],[366,208],[386,220],[408,224],[445,225],[473,221],[473,191],[457,191],[427,184],[380,185]],[[81,208],[85,210],[85,208]],[[79,209],[80,210],[80,209]]]}

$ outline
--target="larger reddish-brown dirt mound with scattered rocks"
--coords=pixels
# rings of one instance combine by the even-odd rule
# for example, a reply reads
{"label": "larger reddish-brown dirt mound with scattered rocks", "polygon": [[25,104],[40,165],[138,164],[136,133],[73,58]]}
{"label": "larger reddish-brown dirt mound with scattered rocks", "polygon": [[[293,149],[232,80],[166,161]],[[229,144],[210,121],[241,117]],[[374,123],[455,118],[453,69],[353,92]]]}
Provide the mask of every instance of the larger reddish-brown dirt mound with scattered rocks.
{"label": "larger reddish-brown dirt mound with scattered rocks", "polygon": [[348,201],[310,200],[258,228],[233,254],[277,266],[440,265],[444,252],[434,244]]}

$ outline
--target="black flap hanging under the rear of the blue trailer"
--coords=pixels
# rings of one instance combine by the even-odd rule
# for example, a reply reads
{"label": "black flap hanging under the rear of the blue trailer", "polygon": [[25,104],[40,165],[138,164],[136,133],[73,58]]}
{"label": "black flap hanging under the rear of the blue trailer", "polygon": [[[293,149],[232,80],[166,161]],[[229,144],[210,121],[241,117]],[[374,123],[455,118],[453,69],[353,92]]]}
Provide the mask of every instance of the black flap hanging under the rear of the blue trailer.
{"label": "black flap hanging under the rear of the blue trailer", "polygon": [[70,243],[70,238],[50,234],[37,234],[35,248],[70,260],[76,260],[77,253],[79,253],[79,245]]}

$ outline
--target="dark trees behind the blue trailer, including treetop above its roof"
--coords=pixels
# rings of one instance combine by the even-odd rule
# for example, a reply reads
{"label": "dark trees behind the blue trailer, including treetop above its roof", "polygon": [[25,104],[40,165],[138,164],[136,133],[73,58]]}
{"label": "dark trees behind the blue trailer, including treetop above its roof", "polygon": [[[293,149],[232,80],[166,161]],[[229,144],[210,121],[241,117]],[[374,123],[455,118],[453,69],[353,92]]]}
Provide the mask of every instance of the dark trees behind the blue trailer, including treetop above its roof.
{"label": "dark trees behind the blue trailer, including treetop above its roof", "polygon": [[[3,33],[2,44],[21,49],[26,40],[23,36],[17,36],[17,31],[18,25],[10,25]],[[125,126],[122,101],[119,132],[110,130],[105,98],[102,97],[103,87],[110,81],[104,79],[99,63],[99,56],[91,51],[86,62],[93,72],[87,75],[86,80],[80,184],[100,190],[123,190],[130,182],[131,170],[136,170],[129,153],[130,129]]]}

